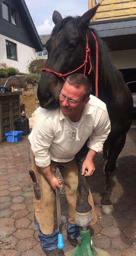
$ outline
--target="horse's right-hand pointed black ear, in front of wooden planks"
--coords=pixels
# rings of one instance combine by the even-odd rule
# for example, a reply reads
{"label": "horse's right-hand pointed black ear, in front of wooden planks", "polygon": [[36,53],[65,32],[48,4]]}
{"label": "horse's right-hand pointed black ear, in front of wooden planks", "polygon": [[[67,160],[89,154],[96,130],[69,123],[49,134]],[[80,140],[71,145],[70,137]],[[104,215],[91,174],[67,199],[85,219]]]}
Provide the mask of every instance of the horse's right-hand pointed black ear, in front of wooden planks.
{"label": "horse's right-hand pointed black ear, in front of wooden planks", "polygon": [[82,24],[86,24],[88,25],[90,20],[93,18],[93,16],[95,15],[97,8],[99,7],[100,4],[97,4],[96,6],[94,6],[92,9],[90,9],[89,11],[85,12],[81,18],[79,19],[79,25],[81,26]]}

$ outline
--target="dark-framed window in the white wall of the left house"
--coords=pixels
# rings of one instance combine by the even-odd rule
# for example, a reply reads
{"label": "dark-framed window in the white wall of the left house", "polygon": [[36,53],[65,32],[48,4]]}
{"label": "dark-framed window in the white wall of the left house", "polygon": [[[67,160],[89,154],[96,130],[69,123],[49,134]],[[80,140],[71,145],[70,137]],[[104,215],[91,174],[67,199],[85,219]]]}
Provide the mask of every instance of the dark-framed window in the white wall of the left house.
{"label": "dark-framed window in the white wall of the left house", "polygon": [[8,59],[17,60],[17,44],[6,40],[6,51]]}

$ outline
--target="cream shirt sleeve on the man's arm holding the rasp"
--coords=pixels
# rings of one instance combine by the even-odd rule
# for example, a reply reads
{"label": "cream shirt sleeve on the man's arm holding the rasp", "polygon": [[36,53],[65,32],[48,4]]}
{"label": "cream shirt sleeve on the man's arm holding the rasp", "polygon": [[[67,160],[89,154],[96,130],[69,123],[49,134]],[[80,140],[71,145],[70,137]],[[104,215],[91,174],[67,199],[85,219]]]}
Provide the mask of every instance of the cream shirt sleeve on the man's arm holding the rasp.
{"label": "cream shirt sleeve on the man's arm holding the rasp", "polygon": [[51,163],[49,148],[53,137],[53,130],[46,120],[35,120],[28,139],[35,156],[35,163],[39,167],[47,167]]}

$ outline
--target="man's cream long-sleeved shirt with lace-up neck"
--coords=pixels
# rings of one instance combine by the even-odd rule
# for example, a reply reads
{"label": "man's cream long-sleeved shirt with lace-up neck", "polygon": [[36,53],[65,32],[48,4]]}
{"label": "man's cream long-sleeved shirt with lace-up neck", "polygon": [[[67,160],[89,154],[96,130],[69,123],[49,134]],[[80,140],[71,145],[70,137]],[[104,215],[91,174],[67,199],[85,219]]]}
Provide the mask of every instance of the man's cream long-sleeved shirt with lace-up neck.
{"label": "man's cream long-sleeved shirt with lace-up neck", "polygon": [[110,131],[106,104],[90,95],[74,133],[60,108],[39,107],[34,112],[34,125],[28,139],[36,164],[46,167],[51,160],[60,163],[73,160],[88,138],[88,148],[101,152]]}

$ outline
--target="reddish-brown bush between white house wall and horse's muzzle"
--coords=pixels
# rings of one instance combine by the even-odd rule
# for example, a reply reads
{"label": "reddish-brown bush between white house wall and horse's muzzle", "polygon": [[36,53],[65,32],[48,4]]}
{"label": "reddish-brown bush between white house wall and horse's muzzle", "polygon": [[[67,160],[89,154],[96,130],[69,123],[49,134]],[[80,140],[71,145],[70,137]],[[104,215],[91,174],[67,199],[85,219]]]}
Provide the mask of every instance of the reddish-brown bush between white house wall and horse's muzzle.
{"label": "reddish-brown bush between white house wall and horse's muzzle", "polygon": [[46,59],[36,59],[36,60],[31,59],[31,61],[28,60],[26,70],[31,74],[32,73],[42,74],[42,69],[45,67],[46,61],[47,61]]}

